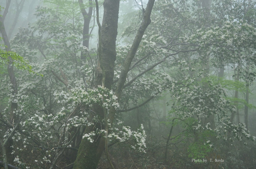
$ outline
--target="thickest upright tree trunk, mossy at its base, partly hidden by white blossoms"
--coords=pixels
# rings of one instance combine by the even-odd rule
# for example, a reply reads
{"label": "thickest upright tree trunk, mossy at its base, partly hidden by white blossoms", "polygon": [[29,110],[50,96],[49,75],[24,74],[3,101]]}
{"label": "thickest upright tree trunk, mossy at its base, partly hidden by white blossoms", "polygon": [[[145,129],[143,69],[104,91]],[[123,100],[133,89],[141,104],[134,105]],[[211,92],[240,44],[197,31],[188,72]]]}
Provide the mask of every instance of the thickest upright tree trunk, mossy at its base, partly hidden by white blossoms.
{"label": "thickest upright tree trunk, mossy at its base, partly hidden by white blossoms", "polygon": [[[114,76],[114,63],[116,61],[116,36],[119,14],[119,0],[105,0],[103,3],[104,15],[100,32],[99,61],[102,70],[102,86],[111,89]],[[101,74],[99,68],[96,74]],[[96,76],[99,82],[101,76]],[[98,85],[98,84],[96,84]],[[99,105],[93,106],[99,121],[104,119],[104,111]],[[96,124],[86,127],[85,133],[104,130],[105,126]],[[96,169],[105,147],[105,139],[102,135],[93,136],[93,143],[87,138],[82,139],[79,152],[75,161],[74,169]]]}

